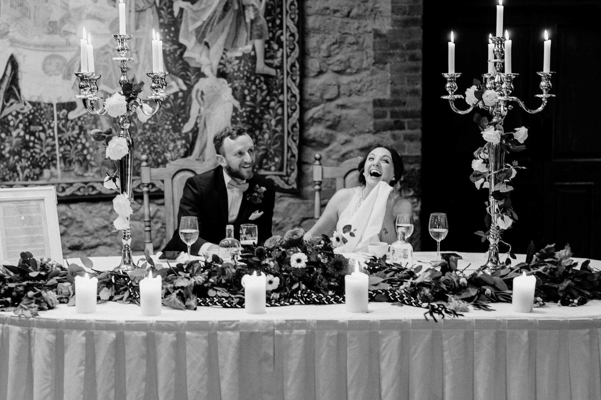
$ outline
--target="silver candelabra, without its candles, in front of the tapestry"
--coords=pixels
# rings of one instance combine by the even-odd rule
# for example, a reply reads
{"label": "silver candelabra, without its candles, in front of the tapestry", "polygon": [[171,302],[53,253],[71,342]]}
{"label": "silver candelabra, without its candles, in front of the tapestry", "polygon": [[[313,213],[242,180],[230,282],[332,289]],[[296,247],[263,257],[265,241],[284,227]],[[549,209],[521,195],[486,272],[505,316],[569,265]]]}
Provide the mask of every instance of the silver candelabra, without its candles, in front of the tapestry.
{"label": "silver candelabra, without its candles, in front of the tapestry", "polygon": [[[121,62],[121,77],[119,78],[119,84],[121,86],[121,94],[126,95],[124,92],[124,86],[130,84],[130,80],[127,77],[127,61],[132,61],[133,58],[127,57],[127,52],[129,52],[129,46],[127,46],[127,41],[132,38],[132,35],[113,35],[113,37],[117,40],[117,53],[119,53],[119,57],[114,57],[114,61]],[[147,75],[152,80],[150,85],[150,90],[152,91],[152,95],[148,96],[148,100],[154,101],[154,106],[150,107],[151,112],[148,113],[142,107],[144,101],[140,100],[138,97],[131,98],[129,97],[129,101],[127,102],[127,112],[123,115],[118,116],[119,118],[119,134],[118,137],[122,137],[127,141],[127,154],[118,161],[118,169],[119,169],[119,182],[120,182],[120,193],[127,196],[127,198],[132,201],[133,200],[133,191],[132,191],[132,174],[133,174],[133,140],[129,134],[129,126],[130,120],[129,116],[136,111],[139,107],[141,112],[147,116],[154,115],[160,108],[163,100],[166,95],[163,94],[163,90],[165,89],[165,77],[168,75],[168,72],[152,72],[147,73]],[[106,110],[105,107],[96,110],[96,101],[101,100],[101,97],[98,97],[96,94],[98,92],[98,86],[96,85],[96,81],[100,79],[99,75],[91,72],[78,72],[75,75],[79,78],[79,91],[81,91],[81,95],[77,95],[76,98],[81,98],[84,102],[84,107],[88,112],[92,115],[105,115]],[[127,218],[129,220],[129,217]],[[121,270],[130,270],[134,269],[135,265],[132,260],[132,230],[131,227],[127,228],[123,231],[123,236],[121,237],[121,241],[123,242],[123,249],[121,250],[121,263],[115,269]]]}

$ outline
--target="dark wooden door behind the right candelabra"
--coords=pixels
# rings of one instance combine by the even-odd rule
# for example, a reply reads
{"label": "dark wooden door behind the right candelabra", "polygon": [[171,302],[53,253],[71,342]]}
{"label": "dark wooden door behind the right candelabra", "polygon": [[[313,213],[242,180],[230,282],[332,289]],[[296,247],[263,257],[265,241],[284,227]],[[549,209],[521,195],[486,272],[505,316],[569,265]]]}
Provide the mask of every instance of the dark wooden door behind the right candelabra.
{"label": "dark wooden door behind the right candelabra", "polygon": [[[486,251],[474,234],[484,227],[487,191],[476,191],[468,177],[472,152],[483,145],[472,121],[458,115],[446,100],[447,42],[455,34],[456,71],[462,73],[456,94],[486,72],[487,37],[495,29],[493,0],[424,2],[423,69],[423,227],[422,248],[435,249],[428,233],[431,212],[447,212],[450,231],[442,248]],[[519,219],[503,239],[516,252],[530,240],[537,248],[570,243],[578,257],[601,258],[601,1],[504,1],[505,28],[513,40],[513,95],[531,109],[540,104],[538,84],[543,64],[543,32],[552,40],[551,93],[543,112],[528,114],[516,103],[505,130],[524,125],[528,149],[511,153],[526,170],[513,180],[513,207]],[[466,109],[465,101],[457,101]],[[487,115],[483,112],[483,115]],[[501,250],[505,249],[502,246]]]}

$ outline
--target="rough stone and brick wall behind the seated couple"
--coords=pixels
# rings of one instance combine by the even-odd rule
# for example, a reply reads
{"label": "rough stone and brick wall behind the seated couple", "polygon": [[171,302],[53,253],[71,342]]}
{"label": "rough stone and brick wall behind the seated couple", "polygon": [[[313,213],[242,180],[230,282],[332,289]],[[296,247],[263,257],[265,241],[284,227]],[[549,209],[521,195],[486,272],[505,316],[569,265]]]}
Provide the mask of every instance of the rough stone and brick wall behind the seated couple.
{"label": "rough stone and brick wall behind the seated couple", "polygon": [[[403,155],[403,196],[413,204],[411,241],[419,249],[422,0],[305,0],[301,5],[300,193],[278,194],[273,233],[313,225],[316,153],[323,165],[336,166],[383,143]],[[332,193],[334,182],[324,182],[323,197]],[[154,248],[159,249],[171,233],[165,235],[161,201],[153,201],[152,212]],[[59,204],[58,213],[66,256],[119,253],[110,201]],[[132,225],[132,245],[140,252],[141,207]]]}

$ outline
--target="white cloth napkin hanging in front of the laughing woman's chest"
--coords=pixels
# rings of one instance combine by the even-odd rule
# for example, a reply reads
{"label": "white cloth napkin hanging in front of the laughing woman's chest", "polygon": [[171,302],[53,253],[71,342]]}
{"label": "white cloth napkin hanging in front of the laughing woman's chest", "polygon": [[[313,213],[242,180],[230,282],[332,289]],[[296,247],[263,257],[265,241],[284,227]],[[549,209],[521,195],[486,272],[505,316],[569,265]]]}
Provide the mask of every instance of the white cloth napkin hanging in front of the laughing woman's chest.
{"label": "white cloth napkin hanging in front of the laughing woman's chest", "polygon": [[336,252],[367,252],[369,243],[380,241],[378,234],[382,230],[391,191],[392,187],[386,182],[378,182],[350,220],[351,231],[355,236],[345,234],[348,241],[338,247]]}

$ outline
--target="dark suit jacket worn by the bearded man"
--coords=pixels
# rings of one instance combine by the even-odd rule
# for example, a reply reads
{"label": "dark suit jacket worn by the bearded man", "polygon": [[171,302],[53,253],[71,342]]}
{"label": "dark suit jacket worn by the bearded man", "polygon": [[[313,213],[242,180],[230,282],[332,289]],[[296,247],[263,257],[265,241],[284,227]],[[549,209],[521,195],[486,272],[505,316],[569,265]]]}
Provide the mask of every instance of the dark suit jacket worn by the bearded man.
{"label": "dark suit jacket worn by the bearded man", "polygon": [[[271,236],[273,205],[275,203],[275,186],[271,181],[255,173],[248,181],[248,190],[242,196],[242,204],[238,217],[234,221],[234,237],[240,239],[240,224],[256,224],[258,227],[258,242],[262,243]],[[255,203],[249,199],[249,194],[257,188],[265,188],[263,199]],[[255,196],[252,196],[255,197]],[[177,213],[177,225],[182,216],[196,216],[200,236],[192,245],[192,254],[198,254],[200,247],[211,242],[216,245],[225,238],[225,225],[228,224],[227,189],[225,188],[224,173],[221,166],[200,175],[192,176],[186,181],[180,209]],[[257,219],[249,219],[255,211],[263,211]],[[186,243],[180,239],[175,230],[172,239],[163,251],[188,251]]]}

